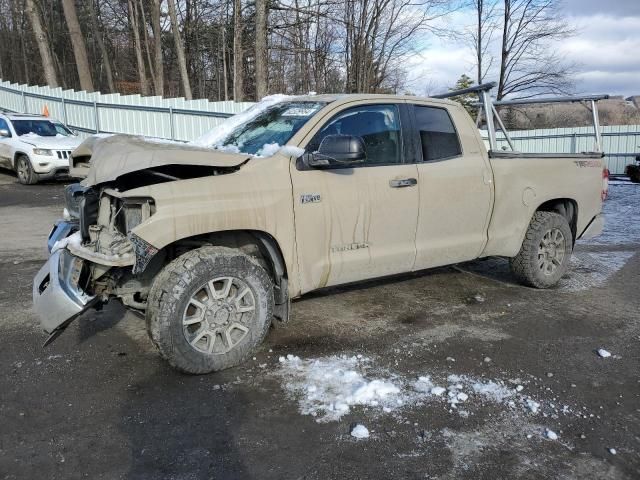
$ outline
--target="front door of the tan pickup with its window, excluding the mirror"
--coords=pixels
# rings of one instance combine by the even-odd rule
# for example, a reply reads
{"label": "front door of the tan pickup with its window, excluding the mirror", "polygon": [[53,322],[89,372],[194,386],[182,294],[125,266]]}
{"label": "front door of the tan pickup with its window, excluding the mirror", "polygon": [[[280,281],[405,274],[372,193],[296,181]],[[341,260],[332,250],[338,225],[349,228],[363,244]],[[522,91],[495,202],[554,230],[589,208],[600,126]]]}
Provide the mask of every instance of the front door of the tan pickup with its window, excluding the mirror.
{"label": "front door of the tan pickup with its window, excluding the mirror", "polygon": [[403,163],[400,108],[360,103],[325,118],[306,151],[326,135],[353,135],[366,160],[354,168],[291,166],[302,293],[410,271],[416,255],[418,172]]}

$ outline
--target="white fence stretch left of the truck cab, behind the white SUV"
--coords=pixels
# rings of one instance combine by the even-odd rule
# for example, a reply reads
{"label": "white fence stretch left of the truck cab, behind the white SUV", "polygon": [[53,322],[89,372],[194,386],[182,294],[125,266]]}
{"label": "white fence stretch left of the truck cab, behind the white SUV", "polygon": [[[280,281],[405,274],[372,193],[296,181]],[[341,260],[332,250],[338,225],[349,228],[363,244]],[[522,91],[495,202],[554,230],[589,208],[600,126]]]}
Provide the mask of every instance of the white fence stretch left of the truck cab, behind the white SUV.
{"label": "white fence stretch left of the truck cab, behind the white SUV", "polygon": [[189,141],[251,105],[76,92],[0,80],[0,108],[40,114],[46,106],[52,117],[84,134],[129,133]]}

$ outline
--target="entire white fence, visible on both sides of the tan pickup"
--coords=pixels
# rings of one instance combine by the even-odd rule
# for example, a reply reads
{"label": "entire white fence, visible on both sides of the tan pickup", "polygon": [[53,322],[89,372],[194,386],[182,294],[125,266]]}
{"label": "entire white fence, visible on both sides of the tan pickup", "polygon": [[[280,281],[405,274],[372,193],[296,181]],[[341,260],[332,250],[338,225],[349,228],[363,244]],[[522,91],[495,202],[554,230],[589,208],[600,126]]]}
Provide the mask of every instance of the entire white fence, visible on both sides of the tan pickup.
{"label": "entire white fence, visible on both sides of the tan pickup", "polygon": [[[52,117],[84,134],[129,133],[189,141],[253,103],[75,92],[0,80],[0,108],[42,113],[45,105]],[[509,135],[522,152],[579,153],[593,150],[594,144],[591,127],[518,130]],[[622,174],[640,153],[640,125],[602,127],[602,142],[609,170]],[[507,145],[501,132],[498,145]]]}

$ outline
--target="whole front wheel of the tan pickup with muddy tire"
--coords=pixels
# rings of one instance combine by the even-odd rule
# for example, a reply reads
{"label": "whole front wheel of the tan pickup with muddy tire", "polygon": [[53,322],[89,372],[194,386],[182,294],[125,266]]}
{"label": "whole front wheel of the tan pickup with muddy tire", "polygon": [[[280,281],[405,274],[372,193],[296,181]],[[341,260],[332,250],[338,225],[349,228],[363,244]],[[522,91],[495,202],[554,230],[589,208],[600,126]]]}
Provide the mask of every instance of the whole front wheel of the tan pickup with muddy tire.
{"label": "whole front wheel of the tan pickup with muddy tire", "polygon": [[252,257],[202,247],[169,263],[148,298],[147,329],[160,355],[186,373],[242,363],[264,340],[273,282]]}

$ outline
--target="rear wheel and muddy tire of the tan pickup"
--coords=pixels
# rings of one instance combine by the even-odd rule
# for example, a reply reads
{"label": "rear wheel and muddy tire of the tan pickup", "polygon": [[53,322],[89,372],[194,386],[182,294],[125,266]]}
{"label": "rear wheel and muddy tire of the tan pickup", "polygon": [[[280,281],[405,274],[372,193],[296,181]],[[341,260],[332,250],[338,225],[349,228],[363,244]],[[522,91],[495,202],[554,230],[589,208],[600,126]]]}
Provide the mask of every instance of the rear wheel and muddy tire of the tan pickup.
{"label": "rear wheel and muddy tire of the tan pickup", "polygon": [[567,271],[572,250],[567,219],[553,212],[536,212],[518,255],[510,260],[511,270],[526,285],[549,288]]}

